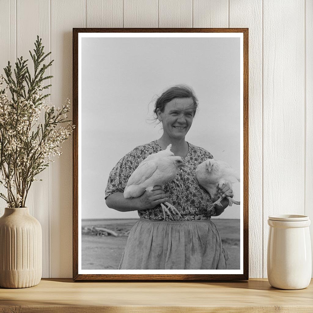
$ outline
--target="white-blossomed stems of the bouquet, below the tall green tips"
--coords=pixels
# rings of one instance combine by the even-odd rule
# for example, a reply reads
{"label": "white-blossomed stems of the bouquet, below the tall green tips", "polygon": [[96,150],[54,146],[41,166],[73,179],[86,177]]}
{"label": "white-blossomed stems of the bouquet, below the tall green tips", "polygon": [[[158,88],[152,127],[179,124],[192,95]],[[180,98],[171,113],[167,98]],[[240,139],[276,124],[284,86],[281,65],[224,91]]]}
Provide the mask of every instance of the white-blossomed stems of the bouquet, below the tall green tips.
{"label": "white-blossomed stems of the bouquet, below the tall green tips", "polygon": [[[53,157],[62,154],[60,145],[68,139],[74,126],[71,122],[61,126],[69,112],[69,99],[57,109],[51,103],[39,102],[43,96],[42,84],[34,89],[31,99],[13,101],[7,91],[13,85],[4,87],[4,82],[0,75],[0,148],[3,147],[0,180],[10,192],[8,205],[19,207],[25,201],[30,184],[39,181],[35,176],[46,168],[45,164],[54,162]],[[46,114],[46,122],[42,114]]]}

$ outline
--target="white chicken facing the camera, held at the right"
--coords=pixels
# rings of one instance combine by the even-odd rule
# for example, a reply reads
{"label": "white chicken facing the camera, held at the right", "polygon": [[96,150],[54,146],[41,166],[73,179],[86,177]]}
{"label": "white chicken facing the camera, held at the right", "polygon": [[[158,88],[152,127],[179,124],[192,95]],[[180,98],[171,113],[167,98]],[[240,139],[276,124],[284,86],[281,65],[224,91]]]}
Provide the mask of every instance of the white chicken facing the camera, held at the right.
{"label": "white chicken facing the camera, held at the right", "polygon": [[[196,168],[196,177],[199,184],[211,195],[211,198],[217,194],[218,187],[221,188],[223,184],[232,188],[234,182],[240,182],[240,179],[228,163],[215,159],[208,159],[199,164]],[[220,196],[213,205],[222,205],[222,199],[223,197]],[[229,206],[240,204],[239,201],[235,201],[231,197],[227,196],[227,199]]]}

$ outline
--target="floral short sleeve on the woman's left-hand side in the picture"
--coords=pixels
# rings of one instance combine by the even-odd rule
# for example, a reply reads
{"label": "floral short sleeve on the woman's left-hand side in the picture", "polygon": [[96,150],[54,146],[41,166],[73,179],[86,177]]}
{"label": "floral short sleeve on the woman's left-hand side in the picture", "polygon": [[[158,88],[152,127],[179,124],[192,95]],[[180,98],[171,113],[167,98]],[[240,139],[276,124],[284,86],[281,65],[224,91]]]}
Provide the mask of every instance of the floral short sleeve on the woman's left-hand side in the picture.
{"label": "floral short sleeve on the woman's left-hand side in the picture", "polygon": [[124,192],[129,177],[138,167],[138,161],[131,154],[126,154],[110,172],[105,188],[105,199],[115,192]]}

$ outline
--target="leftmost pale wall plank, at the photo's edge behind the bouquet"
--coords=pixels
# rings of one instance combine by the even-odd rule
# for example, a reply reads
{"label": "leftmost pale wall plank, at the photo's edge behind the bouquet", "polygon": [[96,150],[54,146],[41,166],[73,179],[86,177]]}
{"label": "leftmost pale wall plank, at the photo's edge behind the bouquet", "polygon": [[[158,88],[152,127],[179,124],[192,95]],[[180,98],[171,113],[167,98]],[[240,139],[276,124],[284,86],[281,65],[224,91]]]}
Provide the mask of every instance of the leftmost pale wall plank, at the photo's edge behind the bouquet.
{"label": "leftmost pale wall plank, at the photo's edge behind the bouquet", "polygon": [[[1,1],[0,8],[0,74],[5,76],[3,68],[14,65],[16,61],[16,3],[15,0]],[[10,95],[10,93],[9,93]],[[6,189],[0,186],[0,192],[6,194]],[[0,216],[7,207],[5,200],[0,198]]]}

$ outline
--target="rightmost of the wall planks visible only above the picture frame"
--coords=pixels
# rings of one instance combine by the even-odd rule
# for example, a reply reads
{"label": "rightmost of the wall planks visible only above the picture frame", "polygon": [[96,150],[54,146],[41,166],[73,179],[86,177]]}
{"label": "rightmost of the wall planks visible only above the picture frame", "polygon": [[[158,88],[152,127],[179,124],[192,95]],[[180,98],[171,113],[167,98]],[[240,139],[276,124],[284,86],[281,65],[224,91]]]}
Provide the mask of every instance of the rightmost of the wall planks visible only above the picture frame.
{"label": "rightmost of the wall planks visible only above the picture frame", "polygon": [[193,0],[193,27],[228,27],[228,0]]}

